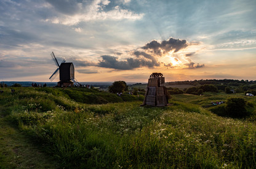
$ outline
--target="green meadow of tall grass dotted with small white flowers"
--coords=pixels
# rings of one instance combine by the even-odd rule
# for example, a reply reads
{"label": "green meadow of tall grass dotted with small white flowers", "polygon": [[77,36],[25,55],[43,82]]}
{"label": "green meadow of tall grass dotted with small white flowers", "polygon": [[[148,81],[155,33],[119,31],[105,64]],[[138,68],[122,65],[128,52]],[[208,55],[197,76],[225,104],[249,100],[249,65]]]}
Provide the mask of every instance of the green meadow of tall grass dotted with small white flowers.
{"label": "green meadow of tall grass dotted with small white flowers", "polygon": [[[250,116],[220,116],[218,109],[225,103],[212,106],[211,101],[230,97],[244,98]],[[6,88],[0,110],[8,124],[43,147],[59,168],[256,165],[255,97],[172,95],[170,106],[164,108],[140,106],[142,101],[142,95],[119,97],[87,88],[23,87],[14,93]],[[0,153],[0,167],[9,168],[8,154]]]}

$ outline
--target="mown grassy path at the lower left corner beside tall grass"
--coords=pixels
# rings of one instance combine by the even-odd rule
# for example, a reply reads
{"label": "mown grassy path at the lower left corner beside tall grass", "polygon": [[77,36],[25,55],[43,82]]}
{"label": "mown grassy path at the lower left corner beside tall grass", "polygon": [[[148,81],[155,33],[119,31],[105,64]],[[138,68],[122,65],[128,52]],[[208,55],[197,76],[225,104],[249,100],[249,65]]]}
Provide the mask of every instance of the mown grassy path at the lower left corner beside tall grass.
{"label": "mown grassy path at the lower left corner beside tall grass", "polygon": [[0,168],[59,168],[2,114],[0,106]]}

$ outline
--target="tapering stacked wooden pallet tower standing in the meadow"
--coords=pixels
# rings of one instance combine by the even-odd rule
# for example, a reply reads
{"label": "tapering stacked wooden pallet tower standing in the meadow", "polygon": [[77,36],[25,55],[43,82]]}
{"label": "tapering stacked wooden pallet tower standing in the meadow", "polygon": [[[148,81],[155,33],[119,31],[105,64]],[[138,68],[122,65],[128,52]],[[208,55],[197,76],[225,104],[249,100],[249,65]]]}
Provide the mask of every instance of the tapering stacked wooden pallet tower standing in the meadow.
{"label": "tapering stacked wooden pallet tower standing in the meadow", "polygon": [[162,73],[152,73],[148,79],[148,87],[143,101],[143,105],[167,106],[167,90],[164,86]]}

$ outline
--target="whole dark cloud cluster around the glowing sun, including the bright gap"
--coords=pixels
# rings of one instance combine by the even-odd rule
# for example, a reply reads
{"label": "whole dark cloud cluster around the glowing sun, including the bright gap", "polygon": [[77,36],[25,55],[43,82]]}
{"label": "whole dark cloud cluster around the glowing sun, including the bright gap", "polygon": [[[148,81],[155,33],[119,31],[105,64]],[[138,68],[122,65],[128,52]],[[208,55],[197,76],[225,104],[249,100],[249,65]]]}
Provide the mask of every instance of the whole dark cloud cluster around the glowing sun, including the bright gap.
{"label": "whole dark cloud cluster around the glowing sun, including the bright gap", "polygon": [[[199,42],[187,42],[186,40],[174,38],[170,38],[169,40],[162,42],[151,41],[143,47],[131,50],[130,52],[128,51],[127,54],[130,57],[125,60],[118,60],[118,57],[111,55],[102,55],[102,60],[99,60],[97,66],[117,70],[131,70],[141,67],[154,68],[161,65],[166,68],[202,68],[204,65],[195,65],[190,58],[187,58],[194,55],[196,52],[190,52],[187,54],[177,53],[179,50],[185,49],[188,45],[198,44]],[[158,57],[159,55],[170,51],[174,51],[174,53],[161,57],[162,59]],[[123,57],[122,53],[118,53],[118,55],[119,57]],[[182,59],[182,61],[180,59]]]}

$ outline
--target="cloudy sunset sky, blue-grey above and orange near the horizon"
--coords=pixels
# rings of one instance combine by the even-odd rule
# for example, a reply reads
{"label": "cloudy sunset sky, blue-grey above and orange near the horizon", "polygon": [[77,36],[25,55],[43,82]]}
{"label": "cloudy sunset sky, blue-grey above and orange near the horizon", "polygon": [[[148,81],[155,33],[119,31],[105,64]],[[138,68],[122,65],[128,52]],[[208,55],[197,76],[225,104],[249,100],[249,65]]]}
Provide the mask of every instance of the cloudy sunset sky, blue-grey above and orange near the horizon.
{"label": "cloudy sunset sky, blue-grey above and orange near the horizon", "polygon": [[[255,0],[1,0],[0,81],[255,80]],[[58,77],[54,82],[58,82]]]}

